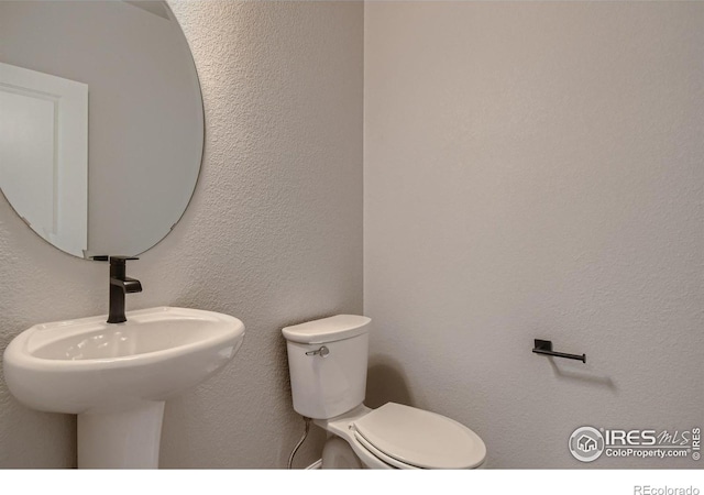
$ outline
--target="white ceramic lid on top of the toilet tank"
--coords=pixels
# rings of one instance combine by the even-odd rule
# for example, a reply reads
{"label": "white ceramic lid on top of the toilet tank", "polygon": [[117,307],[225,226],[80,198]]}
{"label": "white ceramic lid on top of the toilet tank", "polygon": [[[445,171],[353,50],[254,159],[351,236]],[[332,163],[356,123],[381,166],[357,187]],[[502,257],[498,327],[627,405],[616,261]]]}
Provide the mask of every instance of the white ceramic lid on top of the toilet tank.
{"label": "white ceramic lid on top of the toilet tank", "polygon": [[327,343],[350,339],[369,332],[371,318],[358,315],[338,315],[282,330],[286,340],[299,343]]}

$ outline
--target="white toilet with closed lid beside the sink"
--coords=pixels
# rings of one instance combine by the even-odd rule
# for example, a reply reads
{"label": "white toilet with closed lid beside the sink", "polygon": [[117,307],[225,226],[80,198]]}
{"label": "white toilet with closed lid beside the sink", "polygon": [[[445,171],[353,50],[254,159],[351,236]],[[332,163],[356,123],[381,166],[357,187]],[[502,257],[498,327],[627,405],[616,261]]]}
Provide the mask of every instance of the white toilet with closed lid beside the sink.
{"label": "white toilet with closed lid beside the sink", "polygon": [[363,404],[371,321],[339,315],[283,329],[294,409],[329,433],[322,466],[479,468],[486,447],[465,426],[400,404]]}

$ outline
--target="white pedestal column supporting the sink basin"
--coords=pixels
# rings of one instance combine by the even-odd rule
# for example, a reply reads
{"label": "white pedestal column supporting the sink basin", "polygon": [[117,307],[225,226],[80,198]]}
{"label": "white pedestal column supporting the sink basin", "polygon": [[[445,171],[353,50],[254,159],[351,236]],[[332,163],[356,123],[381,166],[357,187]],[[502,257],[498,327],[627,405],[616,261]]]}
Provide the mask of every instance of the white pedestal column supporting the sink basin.
{"label": "white pedestal column supporting the sink basin", "polygon": [[78,469],[157,469],[164,404],[78,415]]}

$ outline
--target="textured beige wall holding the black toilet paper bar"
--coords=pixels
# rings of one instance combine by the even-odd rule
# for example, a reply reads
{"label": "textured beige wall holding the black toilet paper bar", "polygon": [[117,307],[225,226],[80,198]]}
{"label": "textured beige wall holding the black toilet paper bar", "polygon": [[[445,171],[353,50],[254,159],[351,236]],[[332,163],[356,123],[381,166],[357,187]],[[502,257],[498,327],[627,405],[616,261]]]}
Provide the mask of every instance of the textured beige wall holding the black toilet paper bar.
{"label": "textured beige wall holding the black toilet paper bar", "polygon": [[490,468],[583,468],[583,425],[703,426],[703,25],[701,2],[365,4],[374,404],[463,421]]}

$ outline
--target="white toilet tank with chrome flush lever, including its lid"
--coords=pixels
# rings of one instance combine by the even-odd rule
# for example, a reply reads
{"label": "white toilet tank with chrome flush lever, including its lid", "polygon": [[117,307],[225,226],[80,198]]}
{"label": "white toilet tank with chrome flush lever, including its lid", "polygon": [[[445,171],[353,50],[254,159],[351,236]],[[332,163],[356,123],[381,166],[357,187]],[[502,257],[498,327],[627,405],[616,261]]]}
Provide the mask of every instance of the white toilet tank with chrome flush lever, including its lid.
{"label": "white toilet tank with chrome flush lever, including its lid", "polygon": [[364,402],[371,321],[338,315],[282,330],[299,415],[330,419]]}

